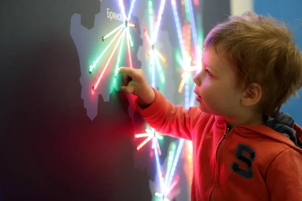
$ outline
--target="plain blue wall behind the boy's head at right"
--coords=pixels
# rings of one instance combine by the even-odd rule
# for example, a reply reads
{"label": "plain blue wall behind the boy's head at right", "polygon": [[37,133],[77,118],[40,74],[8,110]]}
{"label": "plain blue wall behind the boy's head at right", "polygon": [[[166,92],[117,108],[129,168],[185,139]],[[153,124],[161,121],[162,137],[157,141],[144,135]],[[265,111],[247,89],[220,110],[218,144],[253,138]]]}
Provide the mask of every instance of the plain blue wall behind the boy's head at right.
{"label": "plain blue wall behind the boy's head at right", "polygon": [[[302,50],[302,1],[300,0],[254,0],[254,10],[257,14],[271,15],[274,18],[284,21],[293,30],[295,42]],[[299,125],[302,125],[302,91],[298,91],[300,98],[292,97],[282,107],[282,111],[289,113]]]}

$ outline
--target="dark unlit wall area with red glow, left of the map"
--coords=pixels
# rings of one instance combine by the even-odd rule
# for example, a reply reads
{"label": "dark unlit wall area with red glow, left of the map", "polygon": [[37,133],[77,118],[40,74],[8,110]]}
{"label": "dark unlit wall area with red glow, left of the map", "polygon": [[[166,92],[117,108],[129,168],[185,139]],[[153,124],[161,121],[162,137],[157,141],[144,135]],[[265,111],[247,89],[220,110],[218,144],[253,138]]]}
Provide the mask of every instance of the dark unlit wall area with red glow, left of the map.
{"label": "dark unlit wall area with red glow, left of the map", "polygon": [[0,12],[2,200],[150,200],[127,96],[99,96],[94,121],[83,106],[70,19],[91,29],[100,1],[5,1]]}

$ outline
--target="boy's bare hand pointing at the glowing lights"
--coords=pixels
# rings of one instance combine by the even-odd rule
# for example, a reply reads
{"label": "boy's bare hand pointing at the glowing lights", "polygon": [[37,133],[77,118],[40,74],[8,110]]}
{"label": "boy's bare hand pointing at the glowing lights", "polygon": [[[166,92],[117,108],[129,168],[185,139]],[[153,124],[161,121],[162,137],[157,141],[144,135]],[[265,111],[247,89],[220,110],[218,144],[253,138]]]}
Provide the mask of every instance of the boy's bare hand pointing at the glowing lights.
{"label": "boy's bare hand pointing at the glowing lights", "polygon": [[123,84],[121,90],[125,93],[133,93],[139,98],[141,107],[148,106],[154,102],[155,92],[148,84],[141,69],[121,67],[118,73],[123,73]]}

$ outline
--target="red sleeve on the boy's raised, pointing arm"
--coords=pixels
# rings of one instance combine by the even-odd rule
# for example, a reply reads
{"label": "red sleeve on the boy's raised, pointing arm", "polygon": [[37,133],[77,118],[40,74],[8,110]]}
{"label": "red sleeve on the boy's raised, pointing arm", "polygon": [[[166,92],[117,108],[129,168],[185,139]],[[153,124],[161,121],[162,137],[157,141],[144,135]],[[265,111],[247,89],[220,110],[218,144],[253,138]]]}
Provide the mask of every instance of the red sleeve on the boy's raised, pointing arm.
{"label": "red sleeve on the boy's raised, pointing arm", "polygon": [[185,110],[182,106],[174,106],[163,94],[155,91],[154,102],[145,109],[135,105],[146,123],[163,135],[192,140],[192,129],[197,123],[201,111],[197,107]]}

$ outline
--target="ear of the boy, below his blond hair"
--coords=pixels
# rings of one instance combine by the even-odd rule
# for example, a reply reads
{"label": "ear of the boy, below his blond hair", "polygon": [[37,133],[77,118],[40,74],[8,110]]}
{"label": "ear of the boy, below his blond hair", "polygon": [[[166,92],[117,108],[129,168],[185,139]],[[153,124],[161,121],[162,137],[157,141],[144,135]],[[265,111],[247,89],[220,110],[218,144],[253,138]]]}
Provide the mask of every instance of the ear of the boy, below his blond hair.
{"label": "ear of the boy, below his blond hair", "polygon": [[241,104],[245,107],[251,107],[259,103],[262,96],[260,84],[252,83],[244,91]]}

